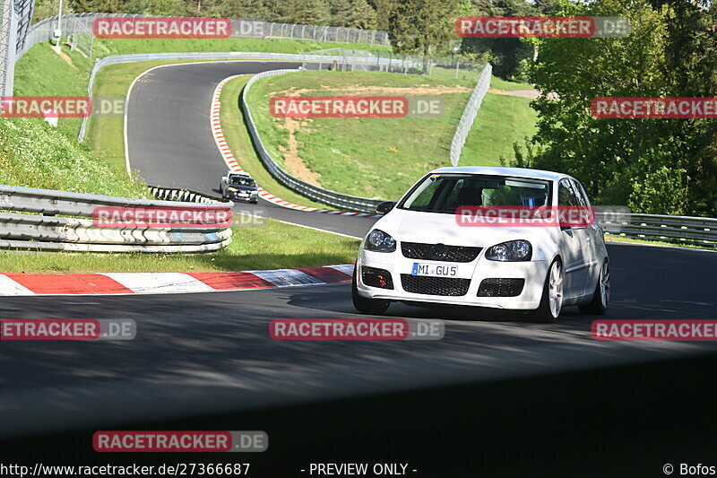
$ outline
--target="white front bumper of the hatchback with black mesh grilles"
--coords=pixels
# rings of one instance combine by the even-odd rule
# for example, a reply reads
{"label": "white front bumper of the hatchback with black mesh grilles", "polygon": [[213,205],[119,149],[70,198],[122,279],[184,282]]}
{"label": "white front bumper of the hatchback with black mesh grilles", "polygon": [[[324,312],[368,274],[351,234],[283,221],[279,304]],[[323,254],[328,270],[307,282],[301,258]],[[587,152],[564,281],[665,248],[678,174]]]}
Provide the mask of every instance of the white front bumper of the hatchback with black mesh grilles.
{"label": "white front bumper of the hatchback with black mesh grilles", "polygon": [[[470,263],[439,262],[410,259],[399,250],[392,253],[361,249],[356,261],[358,294],[370,299],[429,302],[446,305],[487,307],[493,309],[532,310],[540,306],[549,262],[531,260],[526,262],[499,262],[484,257],[485,250]],[[460,296],[414,293],[403,288],[401,274],[411,274],[413,264],[455,265],[459,277],[470,279],[468,291]],[[393,290],[366,285],[362,280],[362,267],[384,269],[391,274]],[[480,283],[484,279],[523,279],[523,290],[514,297],[479,297]]]}

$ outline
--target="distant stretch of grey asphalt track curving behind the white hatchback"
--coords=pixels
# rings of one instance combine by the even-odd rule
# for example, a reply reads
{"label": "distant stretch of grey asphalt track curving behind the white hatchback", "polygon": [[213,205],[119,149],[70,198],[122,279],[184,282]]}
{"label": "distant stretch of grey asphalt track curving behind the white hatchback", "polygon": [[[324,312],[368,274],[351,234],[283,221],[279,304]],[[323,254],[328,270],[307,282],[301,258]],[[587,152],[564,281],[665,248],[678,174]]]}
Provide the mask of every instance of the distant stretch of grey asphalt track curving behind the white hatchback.
{"label": "distant stretch of grey asphalt track curving behind the white hatchback", "polygon": [[[298,68],[290,62],[223,62],[173,65],[141,76],[127,106],[127,141],[131,169],[147,184],[186,187],[218,196],[219,181],[227,173],[212,136],[209,108],[212,95],[225,78],[266,70]],[[238,158],[241,161],[241,158]],[[235,210],[255,211],[286,222],[333,230],[355,237],[366,235],[375,220],[302,213],[263,199],[237,204]]]}

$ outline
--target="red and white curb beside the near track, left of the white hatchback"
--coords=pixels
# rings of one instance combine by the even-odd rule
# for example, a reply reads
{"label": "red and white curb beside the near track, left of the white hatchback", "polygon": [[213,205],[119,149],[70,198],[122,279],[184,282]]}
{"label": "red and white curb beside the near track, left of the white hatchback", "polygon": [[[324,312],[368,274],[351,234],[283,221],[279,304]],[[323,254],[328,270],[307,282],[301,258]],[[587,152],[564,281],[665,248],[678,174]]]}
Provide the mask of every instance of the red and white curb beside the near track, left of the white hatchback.
{"label": "red and white curb beside the near track, left of the white hatchback", "polygon": [[353,265],[204,273],[0,274],[0,296],[186,294],[349,282]]}

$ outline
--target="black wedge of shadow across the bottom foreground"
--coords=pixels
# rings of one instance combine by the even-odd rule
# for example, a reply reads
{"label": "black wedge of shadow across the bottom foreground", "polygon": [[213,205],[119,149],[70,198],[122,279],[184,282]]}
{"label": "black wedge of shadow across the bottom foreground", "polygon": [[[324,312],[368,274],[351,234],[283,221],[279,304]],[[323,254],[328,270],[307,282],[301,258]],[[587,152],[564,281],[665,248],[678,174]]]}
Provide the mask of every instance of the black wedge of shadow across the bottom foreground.
{"label": "black wedge of shadow across the bottom foreground", "polygon": [[100,454],[87,430],[5,442],[0,462],[240,462],[251,464],[249,475],[269,477],[319,476],[312,463],[367,463],[365,476],[377,476],[373,464],[400,463],[407,476],[436,478],[664,476],[670,464],[678,475],[680,464],[717,465],[715,369],[710,355],[123,427],[265,430],[263,453]]}

